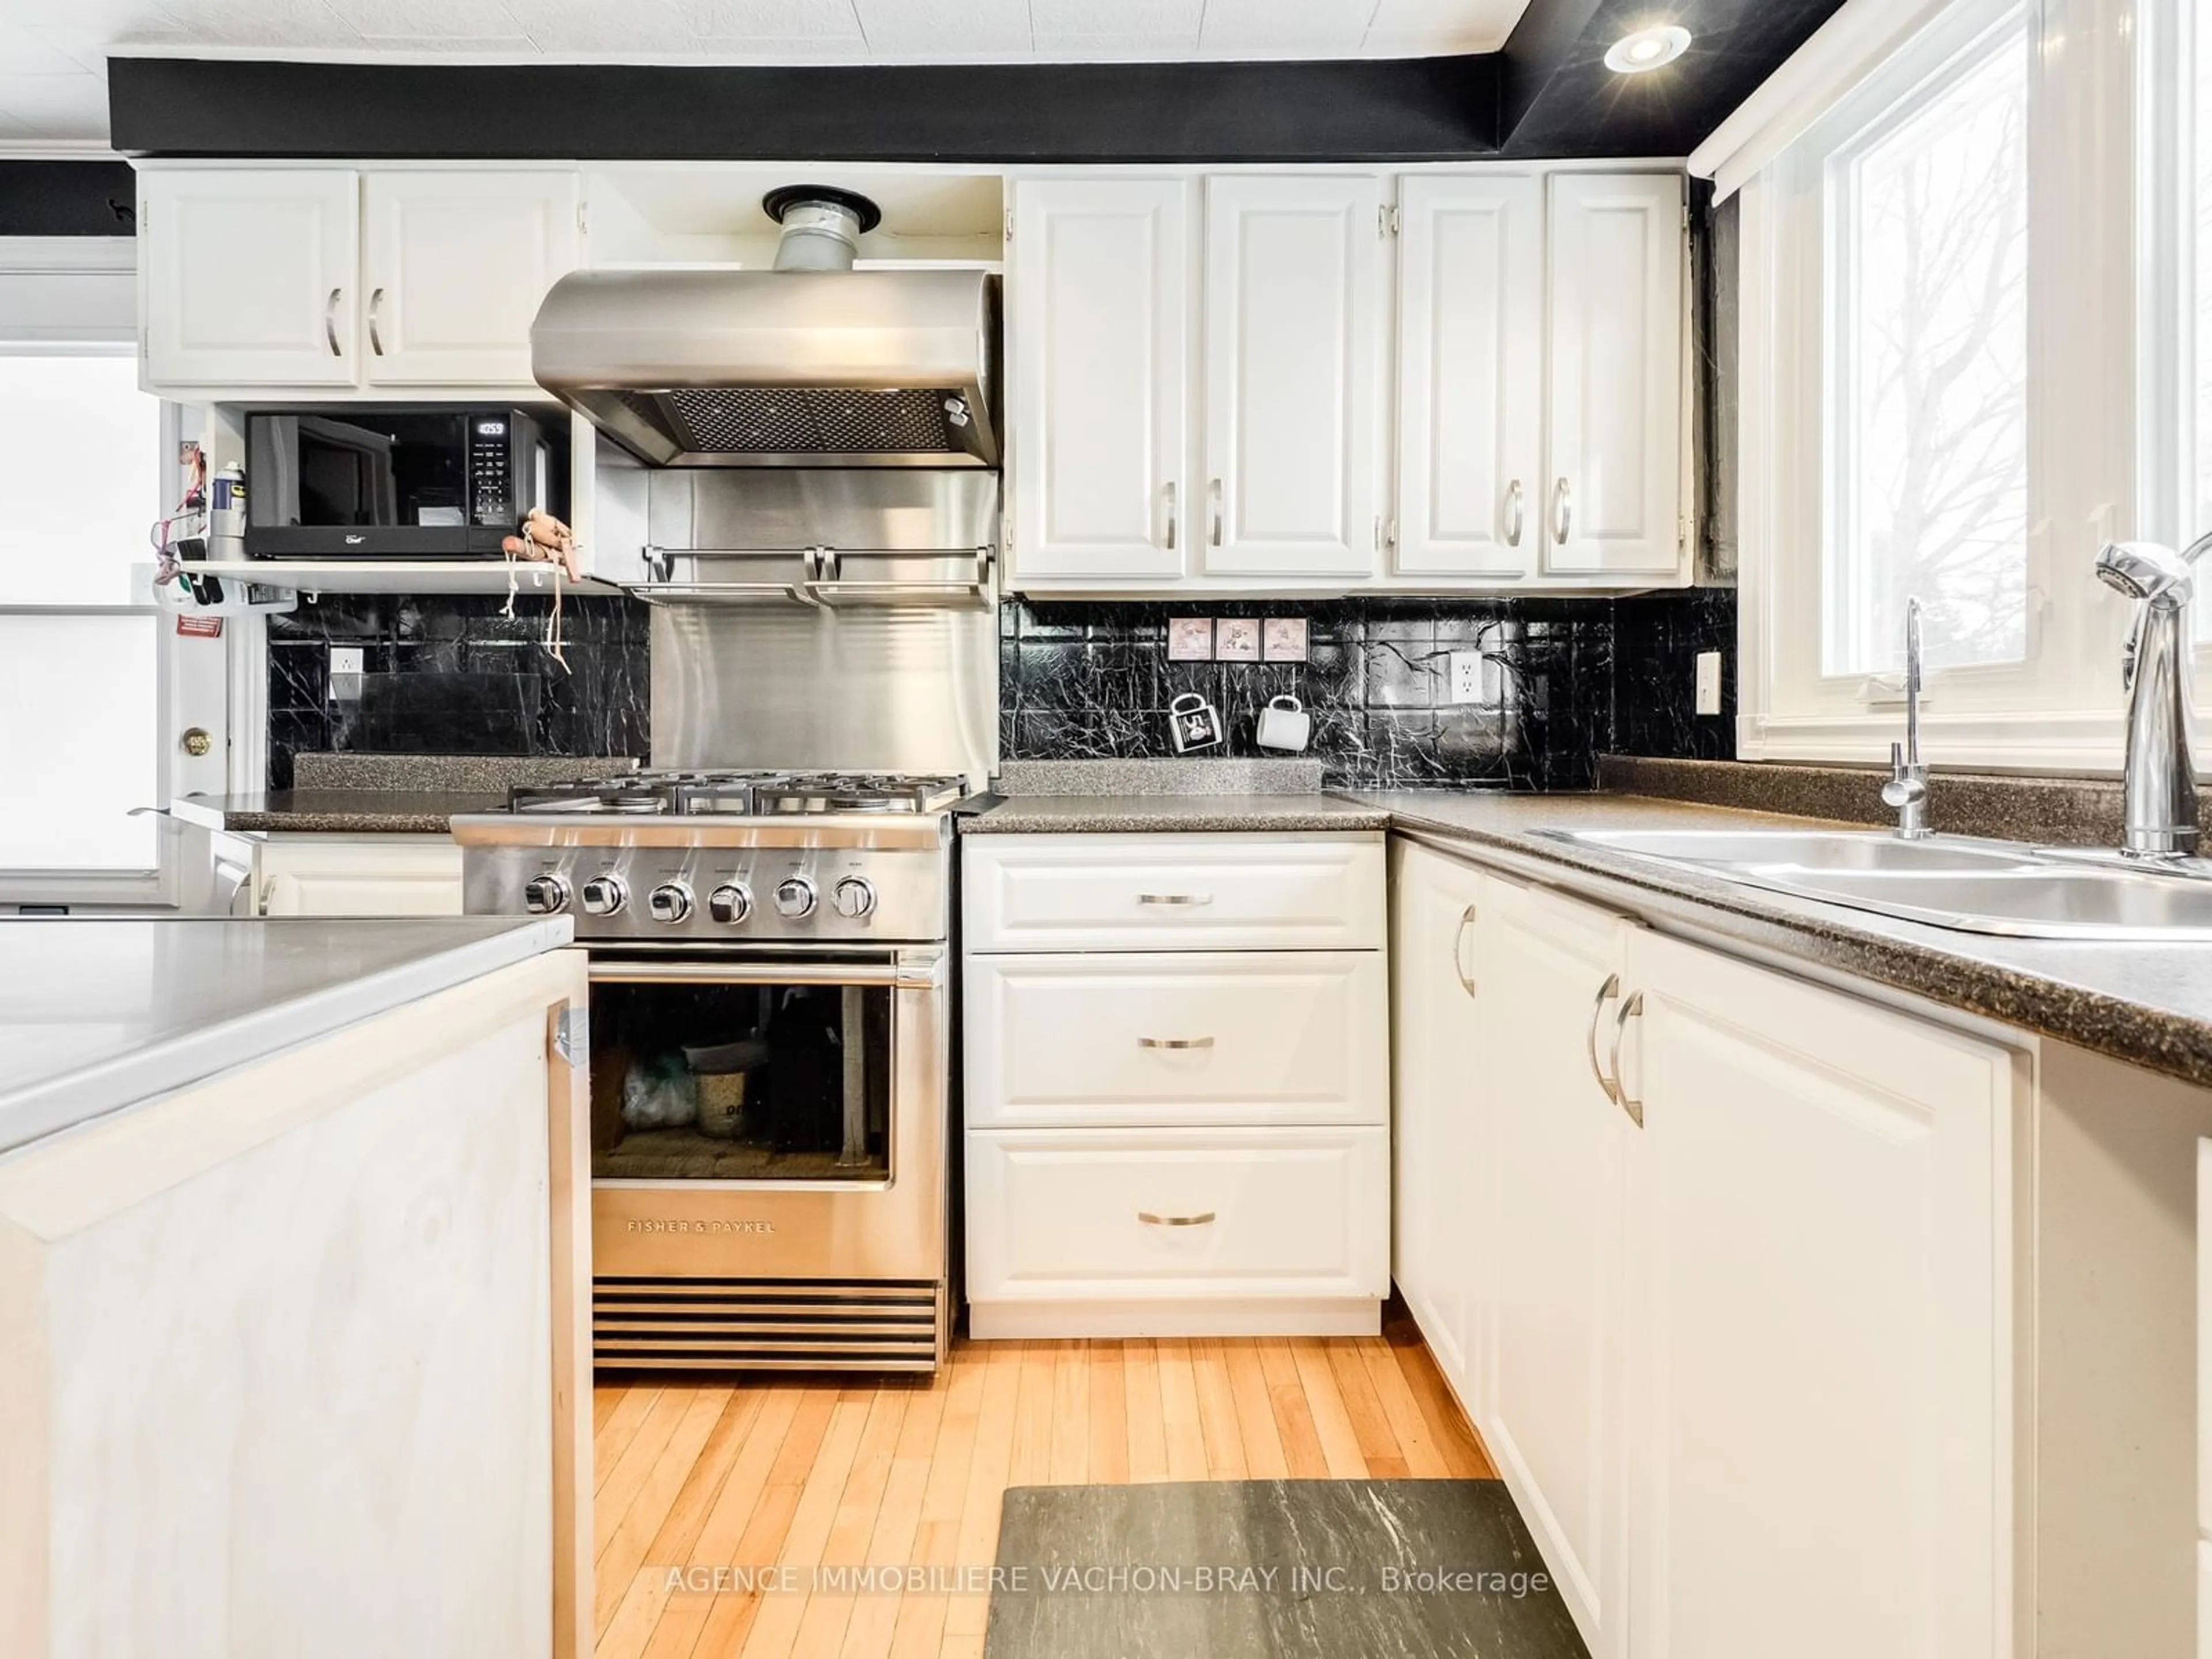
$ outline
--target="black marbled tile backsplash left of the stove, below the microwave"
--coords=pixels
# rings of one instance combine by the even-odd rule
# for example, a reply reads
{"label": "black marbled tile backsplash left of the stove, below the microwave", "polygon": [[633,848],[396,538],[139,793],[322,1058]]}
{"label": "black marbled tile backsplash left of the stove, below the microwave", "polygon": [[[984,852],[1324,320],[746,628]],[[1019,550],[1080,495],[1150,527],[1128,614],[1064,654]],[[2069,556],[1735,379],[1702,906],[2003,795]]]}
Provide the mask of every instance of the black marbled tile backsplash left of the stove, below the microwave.
{"label": "black marbled tile backsplash left of the stove, below the microwave", "polygon": [[[648,611],[562,604],[566,668],[544,648],[549,602],[323,595],[270,617],[270,787],[301,750],[378,754],[646,754]],[[361,697],[332,701],[330,648],[363,648]]]}

